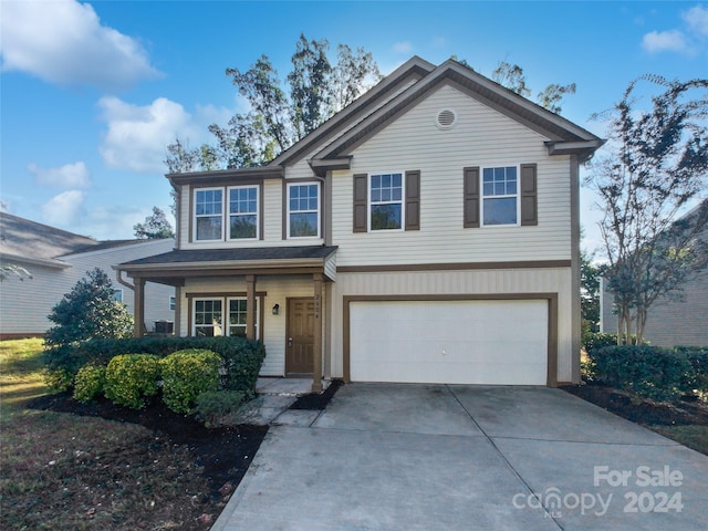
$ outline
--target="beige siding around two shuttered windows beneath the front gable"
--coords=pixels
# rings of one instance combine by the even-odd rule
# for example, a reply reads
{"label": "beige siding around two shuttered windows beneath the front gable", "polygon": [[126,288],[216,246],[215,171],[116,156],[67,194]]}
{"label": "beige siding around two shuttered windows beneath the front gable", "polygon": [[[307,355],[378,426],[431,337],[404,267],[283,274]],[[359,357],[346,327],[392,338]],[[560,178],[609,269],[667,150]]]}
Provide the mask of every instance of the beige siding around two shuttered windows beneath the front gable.
{"label": "beige siding around two shuttered windows beneath the front gable", "polygon": [[[441,108],[458,122],[440,131]],[[549,157],[548,138],[442,86],[353,152],[352,168],[334,171],[333,243],[337,264],[569,260],[570,159]],[[538,164],[539,225],[462,228],[462,169]],[[420,170],[420,230],[352,232],[352,176]],[[405,250],[405,251],[404,251]]]}

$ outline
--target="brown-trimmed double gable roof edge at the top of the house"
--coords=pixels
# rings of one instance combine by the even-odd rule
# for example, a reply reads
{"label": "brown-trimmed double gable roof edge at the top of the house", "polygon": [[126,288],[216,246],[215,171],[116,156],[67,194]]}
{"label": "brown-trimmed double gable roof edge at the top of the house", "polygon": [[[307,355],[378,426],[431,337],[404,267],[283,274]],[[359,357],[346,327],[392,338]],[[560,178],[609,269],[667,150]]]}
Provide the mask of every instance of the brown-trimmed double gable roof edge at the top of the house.
{"label": "brown-trimmed double gable roof edge at the top of the house", "polygon": [[317,149],[309,160],[317,175],[323,176],[327,169],[346,169],[350,154],[356,146],[442,84],[450,84],[541,133],[549,138],[549,155],[575,154],[583,162],[604,144],[602,138],[589,131],[455,60],[447,60],[435,67],[414,56],[352,105],[283,152],[270,165],[290,165]]}

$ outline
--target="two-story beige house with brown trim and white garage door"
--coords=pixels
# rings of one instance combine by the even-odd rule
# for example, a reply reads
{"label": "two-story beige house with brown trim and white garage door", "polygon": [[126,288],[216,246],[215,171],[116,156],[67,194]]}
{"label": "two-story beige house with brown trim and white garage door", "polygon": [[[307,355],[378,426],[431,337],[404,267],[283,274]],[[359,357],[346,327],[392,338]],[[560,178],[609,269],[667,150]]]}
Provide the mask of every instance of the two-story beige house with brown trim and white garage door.
{"label": "two-story beige house with brown trim and white garage door", "polygon": [[579,165],[602,143],[413,58],[268,166],[168,175],[177,249],[119,269],[177,288],[178,334],[259,339],[262,375],[315,391],[577,381]]}

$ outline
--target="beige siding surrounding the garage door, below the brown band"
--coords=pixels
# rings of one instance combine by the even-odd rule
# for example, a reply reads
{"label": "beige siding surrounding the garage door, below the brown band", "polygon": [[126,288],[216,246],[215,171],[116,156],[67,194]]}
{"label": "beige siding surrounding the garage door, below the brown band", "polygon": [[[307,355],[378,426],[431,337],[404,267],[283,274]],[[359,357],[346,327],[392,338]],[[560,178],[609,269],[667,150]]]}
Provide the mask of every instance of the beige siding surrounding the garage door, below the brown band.
{"label": "beige siding surrounding the garage door, below the brown band", "polygon": [[[344,345],[340,332],[344,324],[345,295],[483,295],[518,293],[558,293],[558,381],[570,382],[572,374],[571,322],[572,291],[570,268],[488,270],[488,271],[417,271],[386,273],[342,273],[332,284],[333,332],[332,376],[343,376]],[[510,332],[512,333],[512,332]]]}

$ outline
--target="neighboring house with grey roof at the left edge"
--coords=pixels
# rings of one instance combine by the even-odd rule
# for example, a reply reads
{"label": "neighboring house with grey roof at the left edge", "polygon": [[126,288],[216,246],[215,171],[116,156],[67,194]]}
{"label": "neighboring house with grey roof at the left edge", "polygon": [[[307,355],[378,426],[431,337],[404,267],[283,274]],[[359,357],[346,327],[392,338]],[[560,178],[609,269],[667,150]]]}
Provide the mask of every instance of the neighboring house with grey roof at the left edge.
{"label": "neighboring house with grey roof at the left edge", "polygon": [[[97,241],[0,212],[0,260],[20,266],[32,275],[23,281],[9,275],[0,283],[0,339],[44,335],[53,326],[46,319],[52,308],[94,268],[106,272],[118,290],[116,299],[133,312],[133,290],[117,281],[112,268],[174,247],[173,239]],[[174,296],[171,287],[148,284],[144,321],[147,331],[153,331],[155,321],[174,322]]]}

